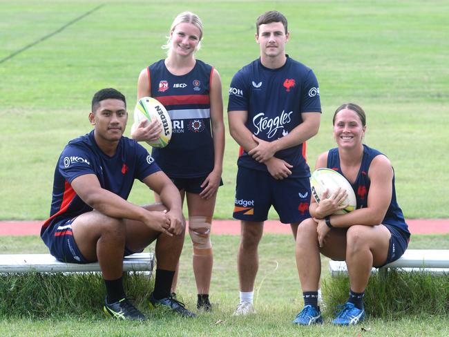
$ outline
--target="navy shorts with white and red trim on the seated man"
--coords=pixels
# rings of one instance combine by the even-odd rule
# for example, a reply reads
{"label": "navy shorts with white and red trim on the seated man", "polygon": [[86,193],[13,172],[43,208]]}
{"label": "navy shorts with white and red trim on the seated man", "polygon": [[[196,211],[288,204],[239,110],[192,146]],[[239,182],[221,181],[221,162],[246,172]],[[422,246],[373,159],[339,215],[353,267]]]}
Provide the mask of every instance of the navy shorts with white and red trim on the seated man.
{"label": "navy shorts with white and red trim on the seated man", "polygon": [[[64,219],[55,223],[52,232],[46,235],[44,239],[50,254],[62,262],[68,263],[89,263],[91,261],[86,260],[79,251],[77,243],[73,238],[72,223],[76,218]],[[137,251],[131,251],[125,247],[124,256],[131,255],[133,253],[140,253]]]}

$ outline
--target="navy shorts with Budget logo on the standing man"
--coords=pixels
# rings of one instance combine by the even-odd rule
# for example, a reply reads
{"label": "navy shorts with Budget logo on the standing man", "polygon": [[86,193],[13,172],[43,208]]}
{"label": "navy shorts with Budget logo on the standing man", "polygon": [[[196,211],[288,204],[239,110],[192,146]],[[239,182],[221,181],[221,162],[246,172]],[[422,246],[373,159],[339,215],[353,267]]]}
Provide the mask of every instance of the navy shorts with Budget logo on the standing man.
{"label": "navy shorts with Budget logo on the standing man", "polygon": [[283,224],[301,222],[310,218],[310,195],[308,177],[276,180],[268,172],[239,167],[233,218],[262,222],[274,206]]}

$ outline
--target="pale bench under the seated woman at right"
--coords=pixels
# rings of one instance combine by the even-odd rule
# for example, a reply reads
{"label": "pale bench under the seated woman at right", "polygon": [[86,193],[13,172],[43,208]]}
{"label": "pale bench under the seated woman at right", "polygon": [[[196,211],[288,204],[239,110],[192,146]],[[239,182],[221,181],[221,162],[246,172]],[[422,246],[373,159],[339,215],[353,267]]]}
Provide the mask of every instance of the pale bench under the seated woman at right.
{"label": "pale bench under the seated woman at right", "polygon": [[[426,271],[432,274],[449,273],[449,249],[407,249],[398,260],[385,264],[379,273],[385,275],[389,268],[403,271]],[[332,277],[347,274],[345,261],[329,261]],[[376,268],[372,272],[376,272]]]}

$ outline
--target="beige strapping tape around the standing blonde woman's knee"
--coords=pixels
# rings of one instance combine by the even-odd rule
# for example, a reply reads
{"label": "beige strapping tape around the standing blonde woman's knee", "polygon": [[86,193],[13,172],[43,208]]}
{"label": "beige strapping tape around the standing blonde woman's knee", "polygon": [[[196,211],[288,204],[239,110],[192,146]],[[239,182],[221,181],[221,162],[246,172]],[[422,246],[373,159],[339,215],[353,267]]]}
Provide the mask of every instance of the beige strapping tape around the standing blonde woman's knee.
{"label": "beige strapping tape around the standing blonde woman's knee", "polygon": [[209,256],[212,254],[211,217],[189,217],[189,234],[193,243],[193,255]]}

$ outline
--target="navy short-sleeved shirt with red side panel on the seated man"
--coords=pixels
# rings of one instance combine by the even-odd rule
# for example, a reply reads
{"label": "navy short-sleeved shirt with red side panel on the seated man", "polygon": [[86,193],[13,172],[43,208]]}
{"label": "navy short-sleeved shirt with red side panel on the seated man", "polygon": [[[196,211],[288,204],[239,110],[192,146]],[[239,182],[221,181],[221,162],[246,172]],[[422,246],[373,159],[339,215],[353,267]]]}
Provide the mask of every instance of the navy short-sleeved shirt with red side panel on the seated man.
{"label": "navy short-sleeved shirt with red side panel on the seated man", "polygon": [[135,140],[122,137],[113,157],[97,146],[94,131],[68,142],[57,162],[53,181],[50,218],[44,222],[41,237],[50,233],[52,224],[92,211],[75,193],[71,182],[80,175],[95,174],[100,186],[126,200],[135,179],[160,171],[148,151]]}

